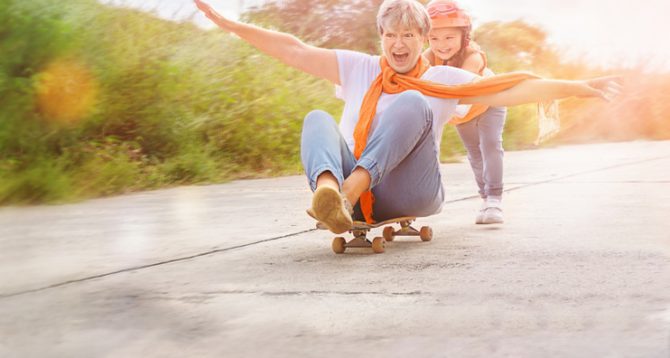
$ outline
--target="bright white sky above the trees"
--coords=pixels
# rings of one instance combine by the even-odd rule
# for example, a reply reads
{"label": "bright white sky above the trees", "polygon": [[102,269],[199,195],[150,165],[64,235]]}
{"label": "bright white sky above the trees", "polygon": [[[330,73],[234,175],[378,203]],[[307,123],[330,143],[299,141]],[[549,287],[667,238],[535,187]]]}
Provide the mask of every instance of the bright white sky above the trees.
{"label": "bright white sky above the trees", "polygon": [[[194,14],[191,0],[99,0],[156,12],[182,20]],[[244,7],[263,0],[210,0],[224,16],[237,18]],[[488,21],[522,19],[540,26],[549,42],[569,59],[582,58],[596,65],[645,64],[649,72],[670,71],[670,0],[462,0],[475,27]],[[202,15],[198,25],[214,25]]]}

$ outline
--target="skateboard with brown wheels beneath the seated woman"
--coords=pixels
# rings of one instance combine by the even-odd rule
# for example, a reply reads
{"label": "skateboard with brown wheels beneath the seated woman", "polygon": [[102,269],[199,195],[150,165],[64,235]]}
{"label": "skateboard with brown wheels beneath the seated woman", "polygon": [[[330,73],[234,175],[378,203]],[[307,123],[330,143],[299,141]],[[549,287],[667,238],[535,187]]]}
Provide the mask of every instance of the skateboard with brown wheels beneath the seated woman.
{"label": "skateboard with brown wheels beneath the seated woman", "polygon": [[[354,226],[349,230],[349,232],[354,236],[353,239],[347,242],[344,237],[338,236],[333,239],[333,252],[336,254],[344,253],[344,251],[350,247],[355,248],[372,248],[372,251],[376,254],[381,254],[384,252],[384,246],[386,241],[393,241],[396,236],[418,236],[421,238],[421,241],[430,241],[433,239],[433,229],[429,226],[423,226],[420,230],[417,230],[411,226],[412,222],[416,220],[416,217],[413,216],[404,216],[399,218],[388,219],[380,221],[374,224],[368,224],[364,221],[354,221]],[[400,229],[393,229],[393,224],[400,224]],[[372,229],[379,227],[384,227],[381,237],[375,237],[370,241],[367,238],[367,234]],[[321,223],[316,224],[317,229],[327,230],[328,228]]]}

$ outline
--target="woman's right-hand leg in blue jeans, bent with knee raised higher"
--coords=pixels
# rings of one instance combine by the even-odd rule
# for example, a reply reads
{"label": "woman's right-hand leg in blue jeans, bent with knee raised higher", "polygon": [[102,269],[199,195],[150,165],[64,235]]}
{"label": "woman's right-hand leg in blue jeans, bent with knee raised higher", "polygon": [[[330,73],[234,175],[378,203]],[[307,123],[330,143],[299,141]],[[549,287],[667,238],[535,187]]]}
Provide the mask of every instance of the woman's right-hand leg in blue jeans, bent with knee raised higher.
{"label": "woman's right-hand leg in blue jeans, bent with knee raised higher", "polygon": [[370,173],[377,221],[428,216],[444,201],[433,112],[417,91],[403,92],[384,112],[357,166]]}

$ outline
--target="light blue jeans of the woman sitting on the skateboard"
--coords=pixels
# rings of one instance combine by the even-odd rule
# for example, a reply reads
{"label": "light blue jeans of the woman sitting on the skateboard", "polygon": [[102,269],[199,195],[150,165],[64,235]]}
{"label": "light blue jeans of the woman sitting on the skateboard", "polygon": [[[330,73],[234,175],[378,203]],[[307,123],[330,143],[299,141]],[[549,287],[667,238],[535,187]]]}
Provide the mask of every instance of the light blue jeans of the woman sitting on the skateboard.
{"label": "light blue jeans of the woman sitting on the skateboard", "polygon": [[[377,221],[428,216],[442,207],[444,190],[433,136],[433,112],[418,91],[401,93],[384,111],[358,160],[333,117],[323,111],[312,111],[305,117],[300,149],[312,191],[323,172],[330,171],[341,188],[356,167],[367,170]],[[359,205],[355,206],[354,219],[363,219]]]}

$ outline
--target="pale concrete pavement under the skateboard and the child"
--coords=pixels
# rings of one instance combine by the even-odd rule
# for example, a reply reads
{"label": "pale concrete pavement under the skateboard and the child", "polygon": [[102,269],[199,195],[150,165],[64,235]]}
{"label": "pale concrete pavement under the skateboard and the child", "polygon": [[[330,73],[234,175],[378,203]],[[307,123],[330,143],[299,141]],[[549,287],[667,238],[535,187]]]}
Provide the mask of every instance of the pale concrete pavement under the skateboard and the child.
{"label": "pale concrete pavement under the skateboard and the child", "polygon": [[[443,166],[432,242],[330,251],[303,177],[0,209],[0,356],[670,357],[670,142]],[[375,232],[380,234],[380,230]]]}

